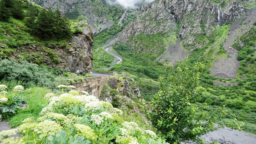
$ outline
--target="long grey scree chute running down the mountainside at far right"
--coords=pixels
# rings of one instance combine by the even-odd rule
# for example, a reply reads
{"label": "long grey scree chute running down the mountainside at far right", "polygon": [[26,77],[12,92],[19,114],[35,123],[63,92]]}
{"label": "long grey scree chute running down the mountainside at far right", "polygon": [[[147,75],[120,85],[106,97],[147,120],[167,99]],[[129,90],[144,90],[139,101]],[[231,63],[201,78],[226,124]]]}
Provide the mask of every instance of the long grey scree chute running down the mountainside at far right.
{"label": "long grey scree chute running down the mountainside at far right", "polygon": [[[212,68],[212,75],[223,78],[236,78],[236,72],[240,65],[240,61],[237,60],[239,51],[232,47],[232,43],[237,36],[242,36],[246,31],[252,28],[255,21],[256,8],[253,8],[231,25],[230,35],[228,36],[227,41],[223,44],[223,48],[231,58],[228,58],[228,56],[222,58],[220,56],[219,60],[215,63],[215,67]],[[241,22],[246,24],[240,25]]]}

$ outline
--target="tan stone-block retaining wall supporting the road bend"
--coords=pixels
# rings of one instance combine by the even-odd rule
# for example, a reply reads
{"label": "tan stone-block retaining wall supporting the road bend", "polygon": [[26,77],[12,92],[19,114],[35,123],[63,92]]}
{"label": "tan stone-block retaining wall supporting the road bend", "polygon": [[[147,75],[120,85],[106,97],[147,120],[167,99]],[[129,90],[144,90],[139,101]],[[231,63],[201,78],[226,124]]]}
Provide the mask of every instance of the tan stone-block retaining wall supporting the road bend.
{"label": "tan stone-block retaining wall supporting the road bend", "polygon": [[90,95],[93,95],[99,98],[103,86],[108,83],[109,76],[113,75],[113,73],[108,73],[108,72],[92,72],[92,73],[96,77],[78,79],[76,80],[76,82],[69,85],[75,86],[76,87],[75,90],[78,92],[86,91]]}

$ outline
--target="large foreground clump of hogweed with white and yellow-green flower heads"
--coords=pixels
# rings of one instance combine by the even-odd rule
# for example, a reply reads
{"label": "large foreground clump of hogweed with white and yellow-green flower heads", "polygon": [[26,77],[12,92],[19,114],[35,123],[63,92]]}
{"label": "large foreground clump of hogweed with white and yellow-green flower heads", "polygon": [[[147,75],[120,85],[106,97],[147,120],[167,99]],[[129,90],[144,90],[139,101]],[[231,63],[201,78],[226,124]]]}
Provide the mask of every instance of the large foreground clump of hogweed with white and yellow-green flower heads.
{"label": "large foreground clump of hogweed with white and yellow-green flower heads", "polygon": [[45,97],[49,98],[49,104],[39,118],[24,119],[18,128],[0,132],[0,139],[19,132],[24,143],[55,144],[61,140],[62,143],[166,144],[155,132],[143,130],[134,122],[119,123],[122,110],[94,96],[64,93]]}

